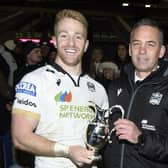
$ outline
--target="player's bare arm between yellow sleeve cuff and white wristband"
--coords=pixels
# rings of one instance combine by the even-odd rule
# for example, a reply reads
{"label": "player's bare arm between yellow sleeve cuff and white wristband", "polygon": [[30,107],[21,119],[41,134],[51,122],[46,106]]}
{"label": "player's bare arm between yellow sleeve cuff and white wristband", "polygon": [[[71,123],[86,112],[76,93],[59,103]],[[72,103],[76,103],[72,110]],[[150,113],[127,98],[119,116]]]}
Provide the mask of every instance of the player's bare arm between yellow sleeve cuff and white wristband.
{"label": "player's bare arm between yellow sleeve cuff and white wristband", "polygon": [[14,145],[37,155],[54,156],[54,142],[33,132],[38,120],[22,114],[12,114],[12,135]]}

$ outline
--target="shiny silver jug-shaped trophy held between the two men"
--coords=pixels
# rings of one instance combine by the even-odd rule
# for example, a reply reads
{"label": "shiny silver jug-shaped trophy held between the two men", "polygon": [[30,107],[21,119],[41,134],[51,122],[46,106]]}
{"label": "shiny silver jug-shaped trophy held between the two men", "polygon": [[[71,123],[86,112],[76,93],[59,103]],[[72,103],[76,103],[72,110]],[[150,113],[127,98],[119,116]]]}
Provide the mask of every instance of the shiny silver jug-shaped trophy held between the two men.
{"label": "shiny silver jug-shaped trophy held between the two men", "polygon": [[[94,119],[88,124],[86,130],[86,145],[94,151],[93,161],[101,160],[100,150],[107,142],[112,143],[111,136],[115,132],[115,128],[109,130],[108,118],[114,112],[121,113],[121,118],[124,118],[124,109],[121,105],[114,105],[109,109],[101,109],[94,102],[94,106],[89,106],[95,112]],[[116,109],[115,111],[113,111]]]}

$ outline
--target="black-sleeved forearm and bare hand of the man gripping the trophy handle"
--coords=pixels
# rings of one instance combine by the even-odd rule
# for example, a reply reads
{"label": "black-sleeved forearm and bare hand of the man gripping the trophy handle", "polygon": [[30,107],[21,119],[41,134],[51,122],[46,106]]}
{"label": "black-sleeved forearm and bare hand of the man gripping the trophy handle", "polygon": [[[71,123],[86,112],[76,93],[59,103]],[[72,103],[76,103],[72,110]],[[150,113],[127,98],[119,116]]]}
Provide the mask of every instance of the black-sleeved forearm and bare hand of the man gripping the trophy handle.
{"label": "black-sleeved forearm and bare hand of the man gripping the trophy handle", "polygon": [[119,119],[115,123],[116,135],[120,140],[134,144],[138,153],[156,162],[168,163],[167,130],[140,130],[132,121]]}

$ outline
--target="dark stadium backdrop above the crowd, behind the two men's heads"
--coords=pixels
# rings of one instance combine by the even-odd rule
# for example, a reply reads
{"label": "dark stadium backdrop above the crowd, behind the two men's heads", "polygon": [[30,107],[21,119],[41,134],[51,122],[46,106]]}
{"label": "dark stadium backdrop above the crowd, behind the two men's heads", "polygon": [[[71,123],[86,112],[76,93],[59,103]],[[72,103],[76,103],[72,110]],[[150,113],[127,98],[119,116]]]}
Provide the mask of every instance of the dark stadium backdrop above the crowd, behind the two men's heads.
{"label": "dark stadium backdrop above the crowd, behind the two men's heads", "polygon": [[[122,7],[123,2],[129,6]],[[151,8],[145,8],[151,4]],[[132,25],[143,17],[155,19],[168,41],[168,0],[1,0],[0,40],[51,37],[55,14],[63,8],[81,11],[89,21],[90,46],[102,45],[107,57],[117,42],[129,42]]]}

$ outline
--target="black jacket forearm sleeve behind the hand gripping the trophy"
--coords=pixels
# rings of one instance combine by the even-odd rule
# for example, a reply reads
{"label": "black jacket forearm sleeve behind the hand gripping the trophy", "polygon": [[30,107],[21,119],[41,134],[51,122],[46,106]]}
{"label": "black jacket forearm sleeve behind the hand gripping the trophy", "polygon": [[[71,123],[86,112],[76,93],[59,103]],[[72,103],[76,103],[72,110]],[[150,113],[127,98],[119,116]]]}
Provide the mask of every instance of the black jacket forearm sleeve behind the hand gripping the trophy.
{"label": "black jacket forearm sleeve behind the hand gripping the trophy", "polygon": [[168,130],[145,130],[135,146],[140,155],[152,161],[168,163]]}

